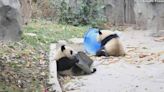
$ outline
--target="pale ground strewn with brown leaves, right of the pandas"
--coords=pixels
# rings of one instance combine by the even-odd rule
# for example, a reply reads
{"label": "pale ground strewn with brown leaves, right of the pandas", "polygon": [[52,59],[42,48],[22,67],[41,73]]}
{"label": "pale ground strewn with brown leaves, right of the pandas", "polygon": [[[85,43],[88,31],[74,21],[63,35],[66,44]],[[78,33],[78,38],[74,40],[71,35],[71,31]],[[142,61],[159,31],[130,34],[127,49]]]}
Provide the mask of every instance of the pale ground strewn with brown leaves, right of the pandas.
{"label": "pale ground strewn with brown leaves, right of the pandas", "polygon": [[[92,75],[78,76],[63,85],[66,92],[164,92],[164,40],[148,31],[121,34],[125,57],[94,57]],[[79,47],[79,46],[77,46]],[[81,46],[82,47],[82,46]]]}

